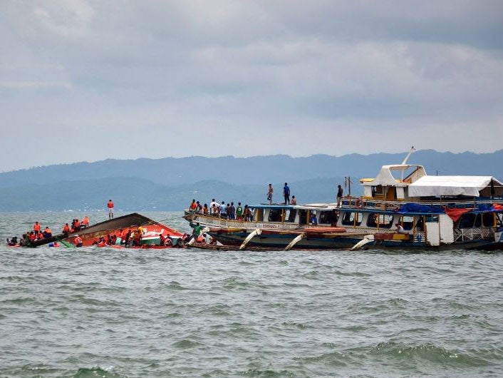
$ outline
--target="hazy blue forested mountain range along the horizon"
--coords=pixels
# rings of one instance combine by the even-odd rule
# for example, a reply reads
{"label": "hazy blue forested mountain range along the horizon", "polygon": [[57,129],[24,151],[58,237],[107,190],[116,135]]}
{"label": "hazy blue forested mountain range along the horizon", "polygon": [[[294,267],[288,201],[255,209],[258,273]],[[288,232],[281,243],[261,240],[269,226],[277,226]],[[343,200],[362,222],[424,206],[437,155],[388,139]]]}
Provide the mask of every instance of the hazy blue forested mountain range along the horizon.
{"label": "hazy blue forested mountain range along the horizon", "polygon": [[[359,195],[360,178],[375,177],[381,165],[401,163],[405,155],[192,156],[47,165],[0,173],[0,211],[100,210],[109,199],[125,211],[182,210],[192,198],[208,204],[212,198],[264,203],[268,183],[275,188],[274,200],[281,202],[285,182],[299,203],[333,202],[335,188],[345,177],[351,176],[351,193]],[[502,161],[503,150],[481,154],[419,150],[408,163],[424,165],[430,175],[502,179]]]}

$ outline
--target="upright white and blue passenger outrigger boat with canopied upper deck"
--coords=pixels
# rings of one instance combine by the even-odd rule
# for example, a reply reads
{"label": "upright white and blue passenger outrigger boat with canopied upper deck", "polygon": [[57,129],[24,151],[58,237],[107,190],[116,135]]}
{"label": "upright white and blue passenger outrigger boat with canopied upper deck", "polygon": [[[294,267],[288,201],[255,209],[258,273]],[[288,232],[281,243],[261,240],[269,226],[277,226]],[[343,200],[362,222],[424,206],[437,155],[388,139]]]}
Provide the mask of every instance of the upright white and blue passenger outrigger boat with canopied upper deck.
{"label": "upright white and blue passenger outrigger boat with canopied upper deck", "polygon": [[[412,151],[411,151],[412,152]],[[503,184],[492,176],[430,176],[422,165],[383,165],[363,196],[336,203],[252,205],[252,220],[185,210],[192,227],[224,245],[289,250],[503,249]],[[316,216],[313,228],[311,218]],[[398,227],[400,225],[400,227]],[[396,229],[400,229],[398,232]]]}

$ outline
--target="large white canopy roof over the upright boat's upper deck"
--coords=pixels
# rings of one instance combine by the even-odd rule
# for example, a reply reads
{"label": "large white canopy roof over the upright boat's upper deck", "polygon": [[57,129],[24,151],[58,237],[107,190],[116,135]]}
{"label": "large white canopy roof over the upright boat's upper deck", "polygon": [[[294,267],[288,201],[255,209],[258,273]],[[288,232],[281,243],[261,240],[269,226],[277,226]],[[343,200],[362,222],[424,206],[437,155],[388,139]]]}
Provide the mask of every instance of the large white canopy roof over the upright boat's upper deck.
{"label": "large white canopy roof over the upright boat's upper deck", "polygon": [[494,186],[501,187],[492,176],[422,176],[409,185],[410,197],[440,195],[469,195],[479,197],[479,191],[487,188],[493,180]]}

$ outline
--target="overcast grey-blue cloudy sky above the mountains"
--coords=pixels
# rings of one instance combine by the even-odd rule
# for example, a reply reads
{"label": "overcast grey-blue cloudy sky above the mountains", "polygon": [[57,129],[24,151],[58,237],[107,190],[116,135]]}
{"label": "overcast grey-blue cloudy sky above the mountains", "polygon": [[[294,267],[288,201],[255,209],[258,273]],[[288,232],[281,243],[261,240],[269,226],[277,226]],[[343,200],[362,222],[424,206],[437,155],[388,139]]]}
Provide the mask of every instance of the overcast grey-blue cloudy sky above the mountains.
{"label": "overcast grey-blue cloudy sky above the mountains", "polygon": [[0,171],[503,148],[502,1],[0,1]]}

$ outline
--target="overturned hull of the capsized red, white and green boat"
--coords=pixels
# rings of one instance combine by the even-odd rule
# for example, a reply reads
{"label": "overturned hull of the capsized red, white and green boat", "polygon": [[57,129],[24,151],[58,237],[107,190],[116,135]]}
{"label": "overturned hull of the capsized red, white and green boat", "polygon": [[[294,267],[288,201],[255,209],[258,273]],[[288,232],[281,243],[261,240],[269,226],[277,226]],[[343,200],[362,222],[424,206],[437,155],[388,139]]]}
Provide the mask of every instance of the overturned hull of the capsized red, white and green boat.
{"label": "overturned hull of the capsized red, white and green boat", "polygon": [[[165,245],[160,245],[160,237],[171,237],[173,240],[179,240],[183,237],[183,233],[178,232],[175,229],[169,228],[162,223],[156,222],[150,218],[147,218],[138,213],[132,213],[128,215],[123,215],[118,218],[113,218],[111,220],[105,220],[101,223],[96,223],[88,228],[83,228],[82,230],[71,233],[63,238],[63,241],[73,245],[76,235],[81,237],[83,242],[83,247],[87,247],[95,244],[100,240],[100,237],[108,237],[108,235],[115,235],[118,237],[118,243],[120,243],[120,235],[128,232],[128,230],[136,231],[141,226],[143,229],[143,234],[141,237],[141,245],[135,247],[167,247]],[[173,243],[175,244],[175,243]],[[177,244],[177,243],[176,243]]]}

